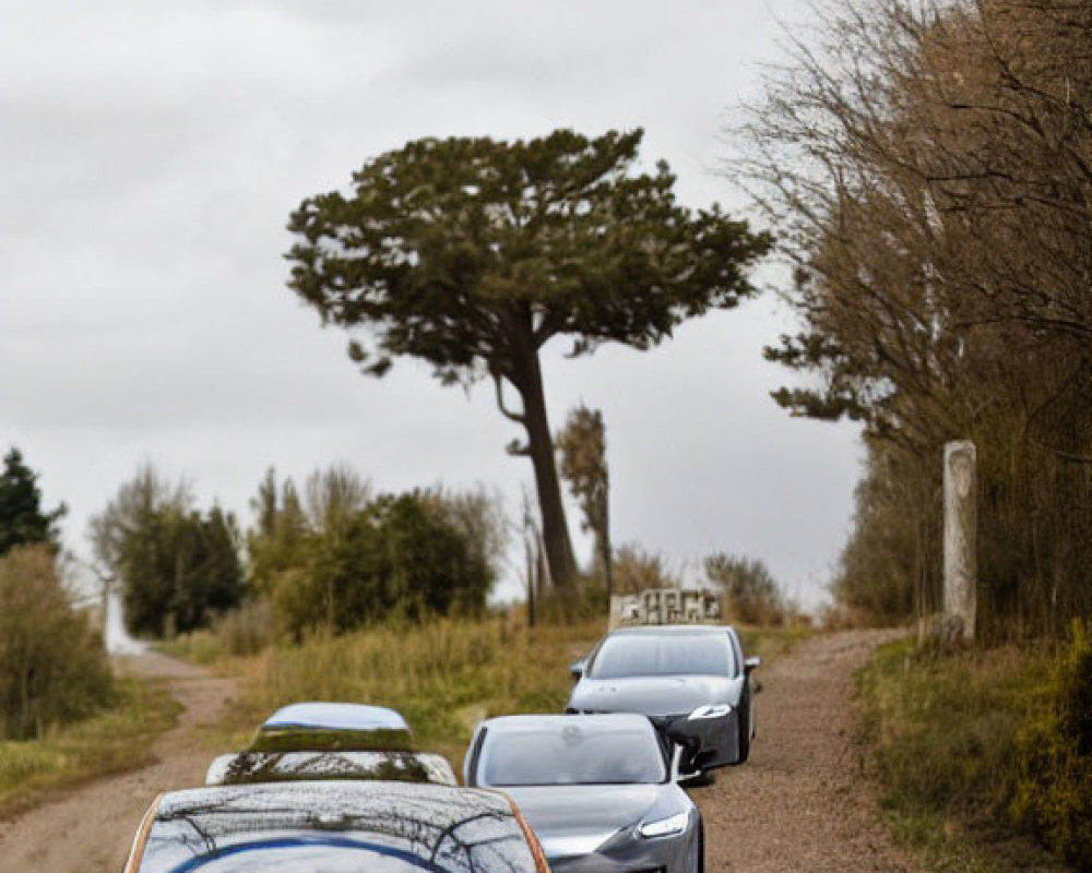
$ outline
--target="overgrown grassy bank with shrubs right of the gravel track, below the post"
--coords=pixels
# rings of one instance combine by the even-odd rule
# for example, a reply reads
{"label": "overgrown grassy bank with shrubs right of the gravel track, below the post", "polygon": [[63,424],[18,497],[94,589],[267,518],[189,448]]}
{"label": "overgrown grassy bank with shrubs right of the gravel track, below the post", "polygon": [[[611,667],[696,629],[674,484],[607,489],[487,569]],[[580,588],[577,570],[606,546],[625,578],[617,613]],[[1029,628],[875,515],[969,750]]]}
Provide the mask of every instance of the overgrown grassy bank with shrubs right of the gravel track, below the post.
{"label": "overgrown grassy bank with shrubs right of the gravel track, below the post", "polygon": [[1058,651],[881,649],[858,679],[895,834],[942,872],[1089,869],[1090,666],[1080,634]]}

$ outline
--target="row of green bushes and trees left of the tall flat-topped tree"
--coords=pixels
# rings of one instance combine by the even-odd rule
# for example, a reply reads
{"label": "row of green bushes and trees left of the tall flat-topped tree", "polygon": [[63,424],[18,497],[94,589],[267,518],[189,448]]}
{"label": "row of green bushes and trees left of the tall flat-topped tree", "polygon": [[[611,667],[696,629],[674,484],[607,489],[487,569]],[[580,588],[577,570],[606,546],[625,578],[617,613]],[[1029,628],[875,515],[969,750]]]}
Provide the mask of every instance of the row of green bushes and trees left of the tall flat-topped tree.
{"label": "row of green bushes and trees left of the tall flat-topped tree", "polygon": [[[485,492],[375,494],[347,467],[313,473],[302,493],[270,470],[245,534],[185,482],[144,466],[92,521],[97,561],[117,581],[130,632],[173,636],[260,599],[300,638],[392,617],[484,610],[505,542]],[[244,559],[245,555],[245,559]]]}

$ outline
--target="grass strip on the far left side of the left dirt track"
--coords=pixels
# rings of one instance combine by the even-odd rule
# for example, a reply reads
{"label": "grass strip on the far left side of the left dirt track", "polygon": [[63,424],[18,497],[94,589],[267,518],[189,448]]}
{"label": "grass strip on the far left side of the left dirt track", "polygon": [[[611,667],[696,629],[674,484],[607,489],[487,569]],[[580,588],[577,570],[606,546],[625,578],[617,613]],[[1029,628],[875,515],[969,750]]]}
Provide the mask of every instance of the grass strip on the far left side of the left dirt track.
{"label": "grass strip on the far left side of the left dirt track", "polygon": [[49,792],[151,763],[152,740],[177,715],[178,704],[159,683],[119,679],[114,707],[41,740],[0,742],[0,818]]}

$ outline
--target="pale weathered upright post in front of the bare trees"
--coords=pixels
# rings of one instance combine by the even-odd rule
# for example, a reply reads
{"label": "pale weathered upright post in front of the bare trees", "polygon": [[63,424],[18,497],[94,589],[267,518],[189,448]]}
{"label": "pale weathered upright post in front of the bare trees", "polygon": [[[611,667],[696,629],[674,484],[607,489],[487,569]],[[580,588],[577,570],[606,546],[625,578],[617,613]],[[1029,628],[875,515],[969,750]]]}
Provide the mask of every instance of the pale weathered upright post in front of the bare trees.
{"label": "pale weathered upright post in front of the bare trees", "polygon": [[977,607],[977,481],[974,443],[945,444],[945,624],[953,639],[974,639]]}

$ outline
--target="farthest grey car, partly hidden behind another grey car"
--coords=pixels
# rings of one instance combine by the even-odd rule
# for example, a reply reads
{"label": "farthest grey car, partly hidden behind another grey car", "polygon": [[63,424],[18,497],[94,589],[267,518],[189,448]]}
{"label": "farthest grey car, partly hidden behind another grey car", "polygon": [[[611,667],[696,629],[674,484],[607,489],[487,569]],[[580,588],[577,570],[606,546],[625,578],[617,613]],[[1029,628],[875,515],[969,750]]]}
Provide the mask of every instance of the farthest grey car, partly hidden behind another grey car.
{"label": "farthest grey car, partly hidden behind another grey car", "polygon": [[727,625],[619,627],[585,661],[568,713],[641,713],[665,737],[686,731],[684,769],[704,773],[743,764],[755,737],[752,671],[739,636]]}

